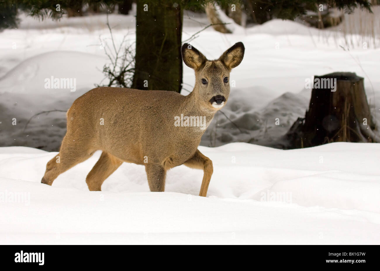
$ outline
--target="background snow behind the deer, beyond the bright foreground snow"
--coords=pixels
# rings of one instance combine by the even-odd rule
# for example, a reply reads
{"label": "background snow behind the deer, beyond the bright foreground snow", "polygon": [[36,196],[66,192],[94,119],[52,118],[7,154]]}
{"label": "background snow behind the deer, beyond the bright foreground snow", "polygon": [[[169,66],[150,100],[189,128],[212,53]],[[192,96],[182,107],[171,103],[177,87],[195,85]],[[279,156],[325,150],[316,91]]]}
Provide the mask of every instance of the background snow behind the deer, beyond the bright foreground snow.
{"label": "background snow behind the deer, beyond the bright foreground snow", "polygon": [[[379,15],[380,6],[375,6],[374,12]],[[355,14],[347,15],[350,25],[350,18],[359,25],[361,17]],[[111,14],[109,21],[117,47],[124,35],[128,43],[134,43],[133,14]],[[32,118],[26,128],[25,125],[36,113],[66,111],[74,99],[100,84],[103,65],[109,62],[103,46],[111,46],[105,23],[104,14],[62,18],[60,22],[38,22],[21,16],[19,29],[0,33],[0,147],[58,150],[66,132],[64,112],[44,113]],[[204,15],[186,11],[182,39],[190,38],[208,24]],[[290,20],[234,27],[233,34],[222,34],[209,27],[191,40],[209,59],[218,58],[237,41],[245,45],[244,60],[231,72],[230,98],[222,109],[233,123],[218,112],[201,145],[249,142],[285,148],[282,135],[298,117],[305,115],[309,105],[311,89],[305,88],[305,80],[335,71],[356,72],[364,77],[372,114],[376,120],[380,118],[380,22],[373,27],[374,37],[344,34],[339,30],[344,24],[335,30],[318,30]],[[192,69],[183,66],[182,94],[187,95],[195,76]],[[44,79],[51,76],[75,78],[76,91],[44,88]],[[13,118],[17,125],[13,125]],[[277,118],[279,125],[275,125]]]}

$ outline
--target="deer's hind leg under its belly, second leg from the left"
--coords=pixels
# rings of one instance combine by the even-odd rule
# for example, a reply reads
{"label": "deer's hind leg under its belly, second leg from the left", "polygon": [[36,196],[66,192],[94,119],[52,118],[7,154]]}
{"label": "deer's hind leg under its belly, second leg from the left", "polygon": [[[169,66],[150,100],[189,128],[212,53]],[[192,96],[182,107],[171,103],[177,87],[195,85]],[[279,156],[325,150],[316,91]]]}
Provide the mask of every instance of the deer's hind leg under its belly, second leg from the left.
{"label": "deer's hind leg under its belly, second leg from the left", "polygon": [[115,156],[103,151],[98,162],[94,165],[86,177],[86,183],[90,191],[101,191],[101,185],[123,162]]}

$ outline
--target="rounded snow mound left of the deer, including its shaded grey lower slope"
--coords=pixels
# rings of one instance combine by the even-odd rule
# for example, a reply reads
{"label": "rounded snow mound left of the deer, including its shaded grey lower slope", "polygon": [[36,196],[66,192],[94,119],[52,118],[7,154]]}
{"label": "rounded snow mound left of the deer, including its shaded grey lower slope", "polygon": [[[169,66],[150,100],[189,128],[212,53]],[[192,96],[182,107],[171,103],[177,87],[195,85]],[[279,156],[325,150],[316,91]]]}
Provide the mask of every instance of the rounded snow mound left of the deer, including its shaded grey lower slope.
{"label": "rounded snow mound left of the deer, including its shaded grey lower slope", "polygon": [[[76,64],[78,61],[81,65]],[[54,51],[28,58],[8,71],[0,78],[0,146],[57,150],[66,132],[65,111],[76,98],[94,88],[94,82],[100,83],[105,61],[105,57],[94,54]],[[53,82],[51,77],[72,80],[75,91],[45,88],[46,79]],[[50,110],[63,112],[33,117]]]}

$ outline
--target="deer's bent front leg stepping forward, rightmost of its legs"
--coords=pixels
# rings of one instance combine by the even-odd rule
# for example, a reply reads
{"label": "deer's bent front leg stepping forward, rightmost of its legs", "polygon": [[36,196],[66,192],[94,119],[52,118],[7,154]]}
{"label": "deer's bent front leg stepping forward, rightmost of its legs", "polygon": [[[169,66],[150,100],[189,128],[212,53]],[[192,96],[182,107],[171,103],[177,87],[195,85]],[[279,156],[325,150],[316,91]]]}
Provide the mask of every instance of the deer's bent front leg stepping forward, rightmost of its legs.
{"label": "deer's bent front leg stepping forward, rightmost of its legs", "polygon": [[201,185],[201,191],[199,195],[201,197],[206,197],[207,189],[209,188],[209,183],[211,180],[212,172],[214,168],[212,167],[212,161],[207,156],[204,156],[199,150],[196,150],[194,156],[188,159],[185,163],[185,166],[192,169],[203,169],[203,180]]}

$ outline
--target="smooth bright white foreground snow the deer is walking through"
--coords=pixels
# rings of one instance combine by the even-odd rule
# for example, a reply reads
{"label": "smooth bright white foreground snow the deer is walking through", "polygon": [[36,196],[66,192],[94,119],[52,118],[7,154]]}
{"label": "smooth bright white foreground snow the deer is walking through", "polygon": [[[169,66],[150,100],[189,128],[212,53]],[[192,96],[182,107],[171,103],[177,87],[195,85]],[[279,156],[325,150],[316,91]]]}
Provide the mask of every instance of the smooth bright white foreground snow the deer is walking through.
{"label": "smooth bright white foreground snow the deer is walking through", "polygon": [[149,192],[144,167],[126,163],[89,192],[99,153],[50,187],[40,180],[56,153],[0,148],[0,201],[19,197],[0,202],[0,243],[380,244],[380,144],[199,148],[214,164],[207,198],[201,170],[183,165],[166,192]]}

